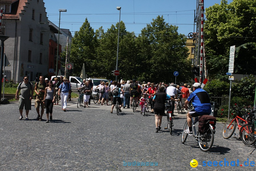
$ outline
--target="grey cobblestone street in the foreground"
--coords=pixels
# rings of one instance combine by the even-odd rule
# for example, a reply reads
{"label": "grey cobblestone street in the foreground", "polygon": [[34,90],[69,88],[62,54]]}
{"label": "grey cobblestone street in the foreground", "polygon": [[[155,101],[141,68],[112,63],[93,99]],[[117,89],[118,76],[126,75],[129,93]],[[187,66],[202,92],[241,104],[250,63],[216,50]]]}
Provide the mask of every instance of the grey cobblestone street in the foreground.
{"label": "grey cobblestone street in the foreground", "polygon": [[[43,121],[36,120],[33,102],[28,121],[24,120],[25,111],[23,120],[18,120],[17,102],[0,105],[0,169],[190,170],[189,162],[195,158],[199,163],[197,170],[255,170],[256,166],[250,166],[250,162],[256,162],[256,150],[249,154],[254,148],[233,137],[224,139],[222,123],[216,124],[213,147],[203,152],[193,137],[181,143],[185,112],[174,113],[174,130],[170,135],[164,130],[166,117],[162,131],[155,133],[154,114],[146,113],[143,117],[140,107],[135,113],[122,108],[120,115],[116,115],[115,111],[110,113],[111,106],[93,102],[88,108],[77,108],[76,100],[68,103],[67,112],[61,110],[61,105],[54,105],[50,123],[46,123],[45,113]],[[203,161],[219,163],[224,158],[229,161],[228,167],[224,163],[203,166]],[[247,158],[249,166],[244,166]],[[231,161],[236,162],[235,166],[230,166]],[[149,166],[137,166],[141,165],[138,162],[149,162]]]}

